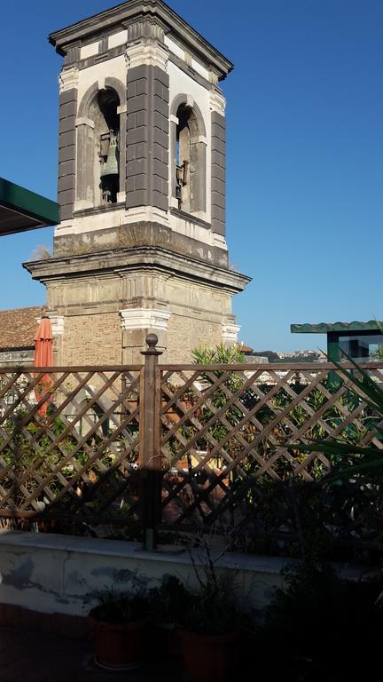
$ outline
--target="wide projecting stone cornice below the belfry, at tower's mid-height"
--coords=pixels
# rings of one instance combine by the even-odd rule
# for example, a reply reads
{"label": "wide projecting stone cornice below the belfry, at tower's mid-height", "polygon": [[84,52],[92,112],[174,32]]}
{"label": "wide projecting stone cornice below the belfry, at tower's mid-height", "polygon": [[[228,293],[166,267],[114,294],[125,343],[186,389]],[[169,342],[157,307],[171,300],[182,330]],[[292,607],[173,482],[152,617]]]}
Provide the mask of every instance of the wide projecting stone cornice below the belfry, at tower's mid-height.
{"label": "wide projecting stone cornice below the belfry, at tower's mid-height", "polygon": [[243,291],[251,278],[222,267],[203,263],[197,258],[184,258],[159,247],[137,247],[113,251],[98,251],[67,258],[23,263],[33,279],[48,281],[89,277],[90,274],[115,273],[123,276],[129,272],[152,270],[160,274],[173,274],[185,280],[200,282],[213,289],[223,289],[231,293]]}

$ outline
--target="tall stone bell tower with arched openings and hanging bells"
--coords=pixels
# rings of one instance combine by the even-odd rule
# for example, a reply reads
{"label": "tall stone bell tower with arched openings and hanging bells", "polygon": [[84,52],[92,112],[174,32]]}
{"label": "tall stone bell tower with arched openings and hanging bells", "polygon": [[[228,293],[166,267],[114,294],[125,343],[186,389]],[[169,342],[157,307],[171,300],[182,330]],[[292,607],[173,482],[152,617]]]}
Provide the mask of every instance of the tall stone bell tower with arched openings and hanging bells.
{"label": "tall stone bell tower with arched openings and hanging bells", "polygon": [[53,258],[26,264],[61,321],[59,364],[164,361],[235,342],[249,278],[225,242],[231,62],[161,0],[129,0],[50,36],[59,75]]}

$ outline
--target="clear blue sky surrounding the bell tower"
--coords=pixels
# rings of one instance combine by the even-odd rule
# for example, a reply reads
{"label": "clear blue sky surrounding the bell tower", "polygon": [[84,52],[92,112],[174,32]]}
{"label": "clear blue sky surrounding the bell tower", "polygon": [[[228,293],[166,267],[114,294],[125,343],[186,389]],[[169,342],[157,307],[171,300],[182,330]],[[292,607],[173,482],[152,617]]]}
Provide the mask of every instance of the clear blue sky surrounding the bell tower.
{"label": "clear blue sky surrounding the bell tower", "polygon": [[[324,348],[290,323],[382,319],[381,0],[169,4],[235,63],[227,239],[253,277],[234,304],[241,340]],[[1,176],[56,198],[61,58],[47,35],[112,5],[2,4]],[[52,228],[1,239],[1,308],[43,303],[20,263],[51,240]]]}

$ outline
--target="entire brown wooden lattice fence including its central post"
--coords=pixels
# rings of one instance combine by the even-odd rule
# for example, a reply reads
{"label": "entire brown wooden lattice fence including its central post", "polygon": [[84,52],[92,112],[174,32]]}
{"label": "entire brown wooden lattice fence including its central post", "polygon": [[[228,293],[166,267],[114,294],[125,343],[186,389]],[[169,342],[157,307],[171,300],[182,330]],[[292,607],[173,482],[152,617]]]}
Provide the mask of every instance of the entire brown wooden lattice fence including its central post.
{"label": "entire brown wooden lattice fence including its central post", "polygon": [[[350,378],[330,363],[158,364],[149,346],[143,366],[0,370],[1,517],[130,525],[148,544],[213,529],[278,551],[306,527],[382,543],[378,487],[319,485],[337,462],[315,440],[383,449]],[[382,365],[364,367],[380,384]]]}

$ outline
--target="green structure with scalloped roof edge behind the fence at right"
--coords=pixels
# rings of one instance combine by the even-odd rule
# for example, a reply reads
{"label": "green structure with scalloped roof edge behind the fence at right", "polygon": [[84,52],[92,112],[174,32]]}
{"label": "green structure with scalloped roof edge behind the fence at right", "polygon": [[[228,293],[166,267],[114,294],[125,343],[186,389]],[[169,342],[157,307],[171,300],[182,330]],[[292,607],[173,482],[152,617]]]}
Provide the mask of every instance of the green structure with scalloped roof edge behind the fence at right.
{"label": "green structure with scalloped roof edge behind the fence at right", "polygon": [[358,361],[373,358],[379,345],[383,345],[383,321],[319,322],[318,324],[292,324],[293,334],[326,334],[329,361],[340,361],[342,351]]}

